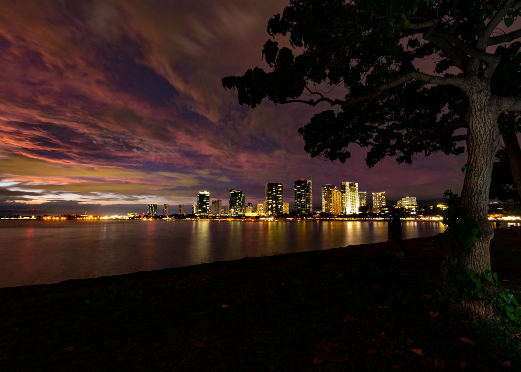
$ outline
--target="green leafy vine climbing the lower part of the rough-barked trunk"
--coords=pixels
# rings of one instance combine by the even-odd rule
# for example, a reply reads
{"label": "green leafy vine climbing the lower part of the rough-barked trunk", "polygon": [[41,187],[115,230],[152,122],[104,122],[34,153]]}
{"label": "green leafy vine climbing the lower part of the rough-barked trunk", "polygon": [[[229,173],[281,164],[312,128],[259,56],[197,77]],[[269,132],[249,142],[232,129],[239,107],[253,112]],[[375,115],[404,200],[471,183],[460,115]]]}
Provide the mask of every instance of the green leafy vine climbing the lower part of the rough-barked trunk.
{"label": "green leafy vine climbing the lower part of the rough-barked trunk", "polygon": [[441,264],[443,274],[443,295],[451,302],[462,299],[480,300],[491,304],[495,316],[505,323],[521,325],[521,309],[514,294],[500,286],[498,273],[485,270],[483,275],[462,265],[462,258],[472,252],[472,247],[480,237],[478,221],[469,216],[461,207],[460,197],[445,191],[447,208],[443,224],[447,226],[443,242],[449,256]]}

